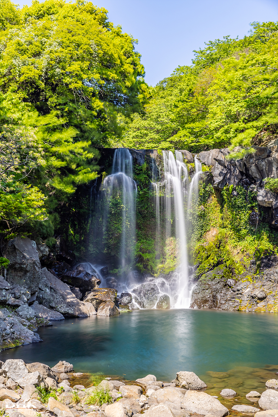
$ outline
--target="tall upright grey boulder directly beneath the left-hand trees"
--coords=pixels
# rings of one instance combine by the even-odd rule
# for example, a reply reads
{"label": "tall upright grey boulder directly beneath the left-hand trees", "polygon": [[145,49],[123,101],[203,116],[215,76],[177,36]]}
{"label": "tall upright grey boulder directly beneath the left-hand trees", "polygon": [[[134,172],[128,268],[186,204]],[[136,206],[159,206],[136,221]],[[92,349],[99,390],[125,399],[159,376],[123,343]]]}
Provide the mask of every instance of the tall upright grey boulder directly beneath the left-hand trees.
{"label": "tall upright grey boulder directly beneath the left-hand trees", "polygon": [[38,291],[40,259],[35,241],[20,237],[10,240],[6,257],[10,261],[7,269],[9,284],[19,284],[27,288],[30,294]]}

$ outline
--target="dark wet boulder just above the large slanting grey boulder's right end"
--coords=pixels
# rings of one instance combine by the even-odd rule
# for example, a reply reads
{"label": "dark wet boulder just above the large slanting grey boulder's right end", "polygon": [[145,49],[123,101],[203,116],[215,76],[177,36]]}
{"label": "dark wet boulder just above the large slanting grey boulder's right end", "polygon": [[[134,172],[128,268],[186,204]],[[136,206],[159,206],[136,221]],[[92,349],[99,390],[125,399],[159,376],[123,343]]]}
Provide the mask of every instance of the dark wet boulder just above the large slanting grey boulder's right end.
{"label": "dark wet boulder just above the large slanting grey boulder's right end", "polygon": [[61,280],[70,286],[80,288],[81,292],[90,291],[98,288],[101,281],[96,276],[89,274],[81,269],[74,271],[67,271],[61,276]]}

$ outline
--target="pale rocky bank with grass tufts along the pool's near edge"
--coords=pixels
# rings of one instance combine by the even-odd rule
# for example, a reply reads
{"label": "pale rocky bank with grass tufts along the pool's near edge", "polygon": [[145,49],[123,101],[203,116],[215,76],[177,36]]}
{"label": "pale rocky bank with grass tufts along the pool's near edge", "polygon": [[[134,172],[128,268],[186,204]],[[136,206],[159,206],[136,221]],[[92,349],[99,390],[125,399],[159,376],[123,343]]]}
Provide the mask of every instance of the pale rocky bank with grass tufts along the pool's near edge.
{"label": "pale rocky bank with grass tufts along the pool's near edge", "polygon": [[[243,376],[244,369],[241,372]],[[248,368],[245,372],[248,374]],[[277,372],[265,369],[260,373],[261,377],[270,377],[264,382],[265,388],[254,383],[243,398],[231,389],[235,381],[230,379],[228,385],[231,371],[207,372],[207,378],[216,382],[213,385],[218,382],[222,387],[215,387],[218,395],[213,395],[211,383],[208,386],[194,372],[177,372],[171,382],[158,381],[151,374],[134,382],[106,377],[88,387],[88,375],[74,373],[68,362],[60,361],[50,369],[39,362],[25,364],[22,359],[8,359],[0,362],[0,412],[7,417],[277,417]]]}

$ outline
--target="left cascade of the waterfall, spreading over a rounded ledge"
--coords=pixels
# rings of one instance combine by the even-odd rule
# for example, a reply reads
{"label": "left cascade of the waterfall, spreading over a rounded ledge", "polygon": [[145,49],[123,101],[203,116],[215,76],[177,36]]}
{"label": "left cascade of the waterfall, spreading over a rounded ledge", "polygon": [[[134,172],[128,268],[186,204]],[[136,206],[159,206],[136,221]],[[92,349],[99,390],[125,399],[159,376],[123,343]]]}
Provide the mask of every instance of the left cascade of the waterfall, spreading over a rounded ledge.
{"label": "left cascade of the waterfall, spreading over a rounded ledge", "polygon": [[108,223],[120,211],[120,267],[133,262],[135,244],[135,202],[137,187],[133,180],[133,158],[128,149],[115,150],[112,173],[104,178],[102,190],[106,200],[103,232],[107,234]]}

